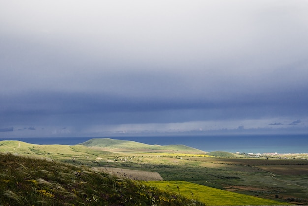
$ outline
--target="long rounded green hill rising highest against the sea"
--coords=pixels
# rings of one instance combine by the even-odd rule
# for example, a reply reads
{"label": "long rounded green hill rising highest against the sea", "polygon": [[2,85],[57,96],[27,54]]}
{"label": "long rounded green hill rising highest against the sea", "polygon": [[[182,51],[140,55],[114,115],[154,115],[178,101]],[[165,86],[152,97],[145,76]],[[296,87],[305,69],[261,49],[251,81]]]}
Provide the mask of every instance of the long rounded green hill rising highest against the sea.
{"label": "long rounded green hill rising highest against the sea", "polygon": [[206,152],[185,145],[149,145],[144,143],[139,143],[135,141],[118,140],[110,138],[93,138],[86,142],[80,143],[78,145],[83,145],[87,147],[95,148],[108,148],[108,149],[120,149],[123,151],[170,151],[170,152],[189,152],[189,153],[199,153],[205,154]]}

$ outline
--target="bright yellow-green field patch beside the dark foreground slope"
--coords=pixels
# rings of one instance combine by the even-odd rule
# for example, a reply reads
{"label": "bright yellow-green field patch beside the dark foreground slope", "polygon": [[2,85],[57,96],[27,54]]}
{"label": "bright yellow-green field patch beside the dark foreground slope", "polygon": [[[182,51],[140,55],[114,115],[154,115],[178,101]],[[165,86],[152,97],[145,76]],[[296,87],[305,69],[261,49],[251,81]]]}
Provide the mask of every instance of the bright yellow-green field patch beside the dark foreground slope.
{"label": "bright yellow-green field patch beside the dark foreground slope", "polygon": [[288,205],[285,202],[219,190],[186,181],[150,181],[145,184],[178,193],[206,205]]}

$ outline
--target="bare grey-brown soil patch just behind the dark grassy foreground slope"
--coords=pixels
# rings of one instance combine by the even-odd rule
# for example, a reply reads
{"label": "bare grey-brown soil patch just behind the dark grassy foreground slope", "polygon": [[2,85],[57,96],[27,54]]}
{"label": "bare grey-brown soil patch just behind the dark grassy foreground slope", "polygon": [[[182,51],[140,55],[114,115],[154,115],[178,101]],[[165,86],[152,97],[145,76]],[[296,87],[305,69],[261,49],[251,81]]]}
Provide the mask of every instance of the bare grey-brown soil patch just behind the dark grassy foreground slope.
{"label": "bare grey-brown soil patch just behind the dark grassy foreground slope", "polygon": [[109,167],[93,167],[93,170],[102,171],[111,175],[116,175],[122,178],[128,178],[133,180],[142,181],[163,181],[163,178],[158,172],[130,170],[121,168],[109,168]]}

